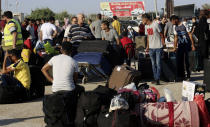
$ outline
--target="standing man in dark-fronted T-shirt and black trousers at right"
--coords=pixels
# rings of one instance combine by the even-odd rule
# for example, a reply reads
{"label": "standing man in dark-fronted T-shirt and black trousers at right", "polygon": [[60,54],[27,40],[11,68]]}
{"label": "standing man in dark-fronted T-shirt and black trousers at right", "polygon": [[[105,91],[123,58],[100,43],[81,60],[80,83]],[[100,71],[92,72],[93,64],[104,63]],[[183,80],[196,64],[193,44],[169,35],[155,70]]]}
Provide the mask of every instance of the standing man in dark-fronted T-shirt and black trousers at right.
{"label": "standing man in dark-fronted T-shirt and black trousers at right", "polygon": [[[185,70],[187,72],[187,78],[190,78],[190,63],[189,63],[189,52],[195,51],[194,40],[189,29],[179,20],[178,16],[171,17],[172,24],[174,27],[174,51],[176,52],[176,63],[177,63],[177,77],[178,80],[184,80]],[[185,69],[185,68],[186,69]]]}

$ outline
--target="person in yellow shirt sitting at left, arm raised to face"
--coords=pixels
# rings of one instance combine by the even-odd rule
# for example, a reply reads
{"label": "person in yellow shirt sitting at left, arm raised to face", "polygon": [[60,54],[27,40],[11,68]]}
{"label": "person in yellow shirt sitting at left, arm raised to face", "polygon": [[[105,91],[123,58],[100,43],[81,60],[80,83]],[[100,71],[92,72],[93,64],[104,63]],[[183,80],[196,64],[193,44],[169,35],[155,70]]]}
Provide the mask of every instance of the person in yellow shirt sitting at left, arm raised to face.
{"label": "person in yellow shirt sitting at left, arm raised to face", "polygon": [[[6,67],[7,59],[11,59],[14,63],[9,67]],[[9,76],[10,72],[14,73],[14,76]],[[29,90],[31,84],[31,75],[29,67],[26,63],[21,59],[20,53],[16,49],[12,49],[10,51],[6,51],[3,69],[0,72],[2,85],[17,85],[20,88]]]}

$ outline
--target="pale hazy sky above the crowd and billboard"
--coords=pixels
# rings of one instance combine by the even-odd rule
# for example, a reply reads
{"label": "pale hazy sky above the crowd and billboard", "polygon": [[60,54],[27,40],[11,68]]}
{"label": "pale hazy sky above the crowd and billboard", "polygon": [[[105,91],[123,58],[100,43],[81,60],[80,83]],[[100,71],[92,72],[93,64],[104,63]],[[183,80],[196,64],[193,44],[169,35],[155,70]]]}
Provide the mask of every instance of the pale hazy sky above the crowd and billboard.
{"label": "pale hazy sky above the crowd and billboard", "polygon": [[[18,1],[18,2],[16,2]],[[99,13],[100,2],[124,1],[124,0],[2,0],[2,10],[13,12],[23,12],[30,14],[36,8],[48,7],[54,12],[67,11],[71,14],[77,13]],[[126,0],[137,1],[137,0]],[[154,0],[143,0],[146,11],[154,11]],[[210,0],[174,0],[175,6],[184,4],[195,4],[200,8],[203,4],[209,3]],[[8,4],[6,4],[8,3]],[[19,3],[16,7],[16,3]],[[8,5],[8,6],[6,6]],[[158,9],[164,7],[164,0],[157,0]]]}

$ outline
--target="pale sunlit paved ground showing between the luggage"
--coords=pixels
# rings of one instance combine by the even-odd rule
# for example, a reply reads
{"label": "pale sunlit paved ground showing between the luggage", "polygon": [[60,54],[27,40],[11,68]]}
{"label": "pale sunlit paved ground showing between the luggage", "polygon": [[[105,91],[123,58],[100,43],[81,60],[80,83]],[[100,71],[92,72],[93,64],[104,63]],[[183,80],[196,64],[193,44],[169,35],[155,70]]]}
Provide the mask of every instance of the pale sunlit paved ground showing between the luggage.
{"label": "pale sunlit paved ground showing between the luggage", "polygon": [[[202,73],[194,73],[193,81],[202,82]],[[149,83],[150,84],[150,83]],[[181,100],[182,83],[165,83],[155,86],[161,96],[163,88],[173,91],[176,100]],[[86,90],[92,90],[98,85],[105,85],[105,82],[91,82],[85,86]],[[51,86],[46,86],[46,94],[51,94]],[[206,93],[206,98],[210,98],[210,93]],[[0,105],[0,126],[4,127],[44,127],[44,115],[42,112],[42,99],[32,102]]]}

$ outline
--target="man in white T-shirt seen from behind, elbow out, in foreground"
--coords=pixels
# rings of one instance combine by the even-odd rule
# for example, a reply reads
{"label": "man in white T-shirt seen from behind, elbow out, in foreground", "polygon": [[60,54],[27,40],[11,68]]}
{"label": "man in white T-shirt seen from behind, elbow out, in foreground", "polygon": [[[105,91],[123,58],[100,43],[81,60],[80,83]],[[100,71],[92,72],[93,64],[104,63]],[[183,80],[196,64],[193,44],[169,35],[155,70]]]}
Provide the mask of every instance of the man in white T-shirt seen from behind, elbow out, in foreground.
{"label": "man in white T-shirt seen from behind, elbow out, in foreground", "polygon": [[[70,56],[72,44],[63,42],[61,55],[54,56],[42,68],[45,77],[53,83],[52,92],[73,91],[78,76],[78,63]],[[49,69],[53,70],[53,77],[48,73]]]}

